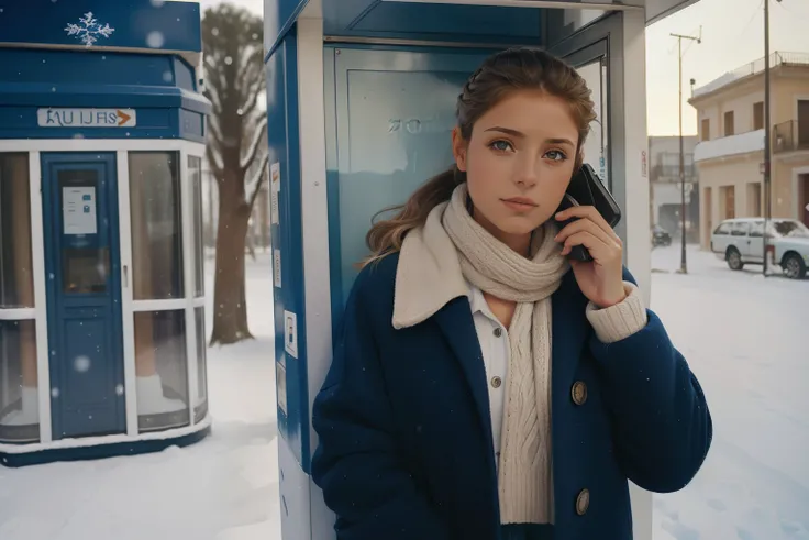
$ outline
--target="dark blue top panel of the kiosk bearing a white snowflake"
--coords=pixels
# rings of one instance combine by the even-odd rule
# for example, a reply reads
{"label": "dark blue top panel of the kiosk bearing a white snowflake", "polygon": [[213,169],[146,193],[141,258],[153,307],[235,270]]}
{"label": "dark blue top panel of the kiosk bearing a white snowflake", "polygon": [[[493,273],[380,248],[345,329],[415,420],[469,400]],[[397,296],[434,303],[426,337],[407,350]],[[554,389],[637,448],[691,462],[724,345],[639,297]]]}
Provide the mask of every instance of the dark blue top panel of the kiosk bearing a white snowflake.
{"label": "dark blue top panel of the kiosk bearing a white snowflake", "polygon": [[0,43],[85,47],[89,35],[92,46],[198,53],[199,21],[196,2],[0,0]]}

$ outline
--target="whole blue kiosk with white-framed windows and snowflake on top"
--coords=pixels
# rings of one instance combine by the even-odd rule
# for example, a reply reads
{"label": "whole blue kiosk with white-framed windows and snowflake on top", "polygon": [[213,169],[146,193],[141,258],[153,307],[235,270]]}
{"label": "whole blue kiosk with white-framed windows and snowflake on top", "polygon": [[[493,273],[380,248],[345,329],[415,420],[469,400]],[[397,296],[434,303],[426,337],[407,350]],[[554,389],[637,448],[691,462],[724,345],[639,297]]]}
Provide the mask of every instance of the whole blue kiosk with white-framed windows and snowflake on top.
{"label": "whole blue kiosk with white-framed windows and snowflake on top", "polygon": [[0,463],[203,438],[199,4],[0,0]]}

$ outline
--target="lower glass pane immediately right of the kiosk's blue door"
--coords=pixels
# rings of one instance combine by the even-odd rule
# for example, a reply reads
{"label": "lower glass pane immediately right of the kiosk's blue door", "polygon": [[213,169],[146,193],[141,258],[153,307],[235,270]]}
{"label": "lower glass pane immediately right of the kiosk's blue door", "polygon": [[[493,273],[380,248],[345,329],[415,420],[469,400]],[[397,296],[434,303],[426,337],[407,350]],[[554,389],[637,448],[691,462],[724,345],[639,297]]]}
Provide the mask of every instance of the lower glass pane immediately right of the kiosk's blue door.
{"label": "lower glass pane immediately right of the kiosk's blue door", "polygon": [[140,431],[188,426],[186,312],[142,311],[134,317]]}

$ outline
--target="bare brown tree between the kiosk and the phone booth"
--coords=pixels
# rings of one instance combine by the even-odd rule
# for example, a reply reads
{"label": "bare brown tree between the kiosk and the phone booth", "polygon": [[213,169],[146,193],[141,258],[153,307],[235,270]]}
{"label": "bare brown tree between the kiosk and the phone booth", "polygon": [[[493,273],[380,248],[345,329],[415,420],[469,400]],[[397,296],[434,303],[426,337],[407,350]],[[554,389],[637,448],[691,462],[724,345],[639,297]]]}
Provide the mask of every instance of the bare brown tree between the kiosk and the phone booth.
{"label": "bare brown tree between the kiosk and the phone booth", "polygon": [[267,176],[262,20],[224,3],[202,19],[208,162],[219,189],[211,344],[252,338],[247,326],[244,252],[253,203]]}

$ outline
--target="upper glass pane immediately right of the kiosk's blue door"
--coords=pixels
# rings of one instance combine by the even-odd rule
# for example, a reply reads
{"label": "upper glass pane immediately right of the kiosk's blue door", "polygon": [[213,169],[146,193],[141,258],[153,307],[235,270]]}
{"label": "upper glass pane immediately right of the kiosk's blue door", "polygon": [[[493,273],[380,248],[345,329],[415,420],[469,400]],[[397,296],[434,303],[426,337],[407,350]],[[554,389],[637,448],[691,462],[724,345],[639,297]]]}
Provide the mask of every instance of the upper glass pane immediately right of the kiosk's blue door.
{"label": "upper glass pane immediately right of the kiosk's blue door", "polygon": [[135,300],[182,298],[182,220],[176,152],[130,152]]}

